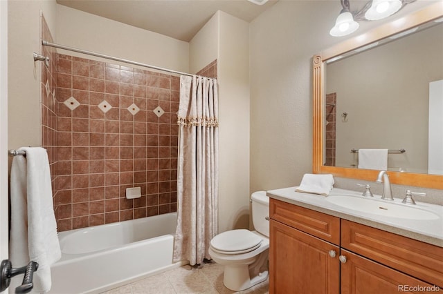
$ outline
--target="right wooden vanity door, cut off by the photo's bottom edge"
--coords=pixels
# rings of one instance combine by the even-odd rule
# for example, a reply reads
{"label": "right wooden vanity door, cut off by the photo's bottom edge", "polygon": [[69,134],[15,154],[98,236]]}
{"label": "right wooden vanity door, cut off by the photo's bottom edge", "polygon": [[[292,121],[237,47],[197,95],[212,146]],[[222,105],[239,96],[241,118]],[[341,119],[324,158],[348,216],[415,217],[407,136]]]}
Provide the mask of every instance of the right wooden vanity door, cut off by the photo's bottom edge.
{"label": "right wooden vanity door, cut off by the photo's bottom edge", "polygon": [[398,294],[440,292],[437,286],[341,249],[341,294]]}

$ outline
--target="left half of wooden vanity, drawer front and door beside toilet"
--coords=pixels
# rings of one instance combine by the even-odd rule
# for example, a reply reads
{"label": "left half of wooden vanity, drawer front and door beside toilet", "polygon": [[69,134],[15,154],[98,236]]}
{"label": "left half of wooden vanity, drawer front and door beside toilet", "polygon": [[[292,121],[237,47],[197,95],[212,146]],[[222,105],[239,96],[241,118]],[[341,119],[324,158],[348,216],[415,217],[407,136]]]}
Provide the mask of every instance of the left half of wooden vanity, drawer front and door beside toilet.
{"label": "left half of wooden vanity, drawer front and door beside toilet", "polygon": [[340,219],[270,200],[269,293],[340,293]]}

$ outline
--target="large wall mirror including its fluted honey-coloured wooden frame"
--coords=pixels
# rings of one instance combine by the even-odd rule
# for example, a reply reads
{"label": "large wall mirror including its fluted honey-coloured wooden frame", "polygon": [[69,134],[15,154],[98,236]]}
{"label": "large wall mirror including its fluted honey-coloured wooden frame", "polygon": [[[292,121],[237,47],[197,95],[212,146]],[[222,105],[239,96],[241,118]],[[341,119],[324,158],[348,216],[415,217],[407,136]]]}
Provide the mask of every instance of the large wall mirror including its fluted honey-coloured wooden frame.
{"label": "large wall mirror including its fluted honey-coloured wooden frame", "polygon": [[[443,23],[435,20],[442,15],[443,5],[437,3],[314,56],[314,173],[374,181],[380,169],[359,167],[359,148],[386,148],[392,183],[443,189],[440,170],[428,167],[428,139],[435,136],[428,136],[430,99],[425,96],[428,81],[442,79],[441,46],[431,53],[429,46],[419,52],[408,45],[432,41],[429,35],[435,33],[441,40]],[[396,53],[388,57],[392,48]],[[387,66],[371,75],[381,64]],[[401,74],[395,74],[399,68]],[[405,88],[419,79],[423,85]]]}

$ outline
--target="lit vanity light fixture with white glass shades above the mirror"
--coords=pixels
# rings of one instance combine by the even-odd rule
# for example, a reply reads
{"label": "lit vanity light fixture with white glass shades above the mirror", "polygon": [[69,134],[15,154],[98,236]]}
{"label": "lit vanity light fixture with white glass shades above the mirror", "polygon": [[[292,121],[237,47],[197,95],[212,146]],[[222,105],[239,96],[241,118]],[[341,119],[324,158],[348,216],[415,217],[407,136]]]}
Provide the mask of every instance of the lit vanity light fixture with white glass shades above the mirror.
{"label": "lit vanity light fixture with white glass shades above the mirror", "polygon": [[361,10],[352,12],[349,0],[340,0],[343,9],[336,19],[334,28],[329,31],[329,35],[333,37],[350,35],[359,28],[357,21],[384,19],[413,1],[415,0],[370,0]]}

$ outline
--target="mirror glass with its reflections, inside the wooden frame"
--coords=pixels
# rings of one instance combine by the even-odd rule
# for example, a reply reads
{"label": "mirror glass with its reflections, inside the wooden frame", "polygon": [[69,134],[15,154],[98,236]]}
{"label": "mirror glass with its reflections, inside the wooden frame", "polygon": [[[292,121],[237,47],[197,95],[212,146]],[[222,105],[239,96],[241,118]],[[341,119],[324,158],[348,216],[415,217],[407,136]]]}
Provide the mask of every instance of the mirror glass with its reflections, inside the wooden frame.
{"label": "mirror glass with its reflections, inside the wooden frame", "polygon": [[428,171],[443,150],[443,124],[428,124],[443,103],[429,96],[443,85],[443,22],[407,32],[326,62],[325,165],[443,175],[443,161]]}

